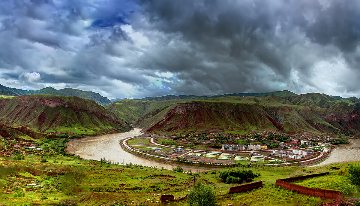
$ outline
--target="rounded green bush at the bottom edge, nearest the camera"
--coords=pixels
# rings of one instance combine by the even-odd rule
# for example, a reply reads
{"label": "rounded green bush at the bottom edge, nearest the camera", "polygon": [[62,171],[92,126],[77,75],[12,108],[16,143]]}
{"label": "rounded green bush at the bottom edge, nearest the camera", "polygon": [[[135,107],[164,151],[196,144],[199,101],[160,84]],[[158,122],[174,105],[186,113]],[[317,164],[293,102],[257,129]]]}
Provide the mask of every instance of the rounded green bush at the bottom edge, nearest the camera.
{"label": "rounded green bush at the bottom edge, nearest the camera", "polygon": [[190,206],[217,206],[214,189],[208,184],[196,183],[194,188],[191,188],[186,198],[186,203]]}

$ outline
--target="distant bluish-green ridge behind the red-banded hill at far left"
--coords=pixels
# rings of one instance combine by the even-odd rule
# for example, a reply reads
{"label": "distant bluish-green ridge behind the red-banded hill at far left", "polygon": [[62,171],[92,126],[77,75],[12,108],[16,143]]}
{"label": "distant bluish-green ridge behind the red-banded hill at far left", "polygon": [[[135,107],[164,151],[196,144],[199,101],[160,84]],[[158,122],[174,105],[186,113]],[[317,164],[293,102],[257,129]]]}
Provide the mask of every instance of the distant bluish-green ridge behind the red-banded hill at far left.
{"label": "distant bluish-green ridge behind the red-banded hill at far left", "polygon": [[[15,89],[0,85],[0,91],[10,91],[12,93],[18,95],[26,95],[26,94],[53,94],[53,95],[62,95],[62,96],[75,96],[83,99],[92,99],[96,103],[103,105],[111,103],[110,100],[106,97],[101,96],[99,93],[95,93],[92,91],[82,91],[79,89],[65,88],[65,89],[54,89],[52,87],[43,88],[40,90],[23,90],[23,89]],[[7,94],[9,95],[9,94]],[[15,95],[11,95],[15,96]]]}

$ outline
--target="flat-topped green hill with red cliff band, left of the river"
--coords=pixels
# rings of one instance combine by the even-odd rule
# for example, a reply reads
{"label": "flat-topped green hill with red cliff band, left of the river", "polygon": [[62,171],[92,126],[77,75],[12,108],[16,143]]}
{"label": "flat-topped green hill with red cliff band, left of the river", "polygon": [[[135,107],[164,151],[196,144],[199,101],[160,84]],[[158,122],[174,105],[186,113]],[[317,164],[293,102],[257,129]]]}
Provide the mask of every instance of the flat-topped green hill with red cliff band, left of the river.
{"label": "flat-topped green hill with red cliff band, left of the river", "polygon": [[93,100],[60,95],[0,98],[0,120],[42,132],[101,134],[129,131],[126,124]]}

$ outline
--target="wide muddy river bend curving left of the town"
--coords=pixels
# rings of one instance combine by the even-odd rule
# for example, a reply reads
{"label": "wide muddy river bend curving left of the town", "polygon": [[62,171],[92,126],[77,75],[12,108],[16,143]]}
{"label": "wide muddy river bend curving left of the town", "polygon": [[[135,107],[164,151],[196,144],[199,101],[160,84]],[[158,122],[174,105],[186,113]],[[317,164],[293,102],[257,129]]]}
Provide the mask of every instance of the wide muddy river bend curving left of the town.
{"label": "wide muddy river bend curving left of the town", "polygon": [[[143,165],[148,167],[157,167],[164,169],[172,170],[176,167],[170,164],[163,164],[156,161],[148,160],[145,158],[138,157],[134,154],[124,151],[119,140],[123,140],[132,136],[139,136],[142,133],[141,129],[134,129],[124,133],[117,134],[105,134],[100,136],[91,136],[81,139],[71,139],[68,143],[68,151],[72,154],[78,154],[86,160],[100,160],[100,158],[105,157],[105,159],[110,159],[112,162],[119,162],[124,165],[132,164]],[[192,172],[198,171],[209,171],[210,169],[201,169],[196,167],[183,167],[184,170],[192,170]]]}

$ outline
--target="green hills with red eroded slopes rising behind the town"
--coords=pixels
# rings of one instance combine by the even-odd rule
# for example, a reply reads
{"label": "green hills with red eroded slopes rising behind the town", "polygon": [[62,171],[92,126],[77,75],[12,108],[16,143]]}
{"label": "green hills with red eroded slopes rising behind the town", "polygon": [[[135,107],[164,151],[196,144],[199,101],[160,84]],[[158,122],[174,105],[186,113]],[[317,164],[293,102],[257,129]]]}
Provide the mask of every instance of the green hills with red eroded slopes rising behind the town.
{"label": "green hills with red eroded slopes rising behind the town", "polygon": [[[265,94],[265,93],[263,93]],[[208,99],[140,101],[126,99],[104,107],[148,133],[181,134],[201,130],[246,132],[276,129],[330,135],[359,135],[359,101],[326,94],[281,91],[255,97],[224,95]]]}

